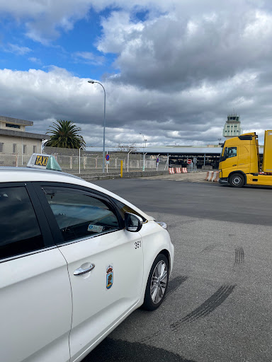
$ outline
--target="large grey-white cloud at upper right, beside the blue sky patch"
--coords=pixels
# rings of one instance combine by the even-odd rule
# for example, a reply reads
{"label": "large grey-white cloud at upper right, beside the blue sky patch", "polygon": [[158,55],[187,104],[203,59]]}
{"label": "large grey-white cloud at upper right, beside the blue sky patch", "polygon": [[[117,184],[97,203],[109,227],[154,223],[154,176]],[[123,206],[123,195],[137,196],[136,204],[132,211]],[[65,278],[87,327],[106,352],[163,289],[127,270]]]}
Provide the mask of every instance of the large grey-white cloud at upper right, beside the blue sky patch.
{"label": "large grey-white cloud at upper right, beside the blue sky patch", "polygon": [[190,17],[177,11],[138,23],[113,12],[101,23],[98,49],[118,55],[113,81],[179,91],[270,64],[271,24],[271,13],[256,9]]}

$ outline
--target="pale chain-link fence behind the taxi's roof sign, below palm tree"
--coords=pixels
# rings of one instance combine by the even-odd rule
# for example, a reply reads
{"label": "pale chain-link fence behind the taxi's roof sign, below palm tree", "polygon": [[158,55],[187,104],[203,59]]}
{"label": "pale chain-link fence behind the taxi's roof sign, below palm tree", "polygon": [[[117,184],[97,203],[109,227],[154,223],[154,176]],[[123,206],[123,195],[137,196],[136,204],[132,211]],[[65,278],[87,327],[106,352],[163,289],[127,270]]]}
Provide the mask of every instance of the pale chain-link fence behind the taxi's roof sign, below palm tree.
{"label": "pale chain-link fence behind the taxi's roof sign, below palm tree", "polygon": [[[33,153],[41,152],[41,144],[33,141],[21,143],[0,142],[0,166],[26,166]],[[167,170],[166,156],[148,156],[145,153],[109,152],[110,160],[103,159],[103,152],[84,151],[75,148],[44,147],[42,153],[55,156],[64,172],[101,173],[103,162],[108,173],[120,173],[123,160],[123,172],[142,170]],[[157,163],[157,159],[159,163]]]}

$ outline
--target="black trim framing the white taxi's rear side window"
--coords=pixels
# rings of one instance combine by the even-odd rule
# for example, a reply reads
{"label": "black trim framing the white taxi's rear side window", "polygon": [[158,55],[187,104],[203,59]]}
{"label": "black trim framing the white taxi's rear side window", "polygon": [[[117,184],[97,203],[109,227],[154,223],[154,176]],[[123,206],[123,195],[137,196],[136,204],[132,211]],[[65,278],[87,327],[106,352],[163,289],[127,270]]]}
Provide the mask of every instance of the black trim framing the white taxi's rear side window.
{"label": "black trim framing the white taxi's rear side window", "polygon": [[25,187],[26,188],[26,192],[28,193],[30,202],[33,206],[33,210],[34,210],[37,222],[38,222],[38,226],[40,228],[40,233],[42,235],[44,247],[42,247],[42,249],[37,249],[37,250],[30,251],[30,252],[23,252],[18,255],[13,255],[11,257],[6,257],[3,259],[0,259],[0,263],[8,262],[10,260],[18,259],[21,257],[27,257],[29,255],[37,254],[39,252],[45,252],[46,250],[56,248],[56,245],[52,238],[52,233],[50,231],[50,227],[47,223],[47,219],[45,218],[45,214],[42,211],[40,201],[33,188],[33,185],[31,185],[31,182],[1,182],[0,183],[0,189],[8,188],[8,187]]}

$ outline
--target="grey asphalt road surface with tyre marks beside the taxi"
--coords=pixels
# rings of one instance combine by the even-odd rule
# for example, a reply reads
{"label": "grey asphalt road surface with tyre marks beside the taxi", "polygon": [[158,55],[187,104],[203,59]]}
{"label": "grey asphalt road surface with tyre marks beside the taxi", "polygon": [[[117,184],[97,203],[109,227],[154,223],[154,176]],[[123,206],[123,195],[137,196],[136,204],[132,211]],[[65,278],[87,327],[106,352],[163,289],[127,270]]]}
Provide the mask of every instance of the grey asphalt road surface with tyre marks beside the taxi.
{"label": "grey asphalt road surface with tyre marks beside the taxi", "polygon": [[175,264],[162,306],[136,310],[84,362],[271,362],[272,189],[94,183],[166,221]]}

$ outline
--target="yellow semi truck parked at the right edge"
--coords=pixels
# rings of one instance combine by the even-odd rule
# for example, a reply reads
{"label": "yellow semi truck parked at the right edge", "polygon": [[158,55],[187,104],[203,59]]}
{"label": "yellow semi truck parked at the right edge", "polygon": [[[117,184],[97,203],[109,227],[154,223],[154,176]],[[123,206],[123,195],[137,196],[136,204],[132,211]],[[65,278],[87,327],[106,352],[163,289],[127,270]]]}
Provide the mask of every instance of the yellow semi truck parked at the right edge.
{"label": "yellow semi truck parked at the right edge", "polygon": [[255,132],[227,139],[219,160],[219,182],[232,187],[272,186],[272,131],[265,131],[263,163]]}

